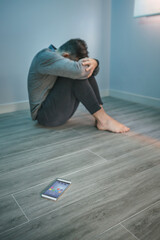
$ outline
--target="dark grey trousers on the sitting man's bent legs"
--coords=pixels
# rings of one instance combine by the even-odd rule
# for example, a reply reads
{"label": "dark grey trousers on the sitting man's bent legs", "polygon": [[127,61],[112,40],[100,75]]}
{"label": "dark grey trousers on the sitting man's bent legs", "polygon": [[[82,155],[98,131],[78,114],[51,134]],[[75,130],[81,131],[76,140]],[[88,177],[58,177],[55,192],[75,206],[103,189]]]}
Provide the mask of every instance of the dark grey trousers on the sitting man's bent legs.
{"label": "dark grey trousers on the sitting man's bent legs", "polygon": [[101,109],[103,102],[95,77],[84,80],[58,77],[38,110],[37,121],[49,127],[62,125],[71,118],[80,102],[90,114]]}

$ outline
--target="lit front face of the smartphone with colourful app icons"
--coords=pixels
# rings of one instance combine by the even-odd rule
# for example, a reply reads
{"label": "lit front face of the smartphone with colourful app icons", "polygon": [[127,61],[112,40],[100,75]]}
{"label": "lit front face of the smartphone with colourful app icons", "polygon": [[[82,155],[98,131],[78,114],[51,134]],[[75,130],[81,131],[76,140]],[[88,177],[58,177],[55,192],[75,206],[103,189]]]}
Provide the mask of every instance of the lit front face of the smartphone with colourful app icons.
{"label": "lit front face of the smartphone with colourful app icons", "polygon": [[56,180],[43,194],[53,198],[58,198],[66,190],[66,188],[69,187],[69,185],[70,183]]}

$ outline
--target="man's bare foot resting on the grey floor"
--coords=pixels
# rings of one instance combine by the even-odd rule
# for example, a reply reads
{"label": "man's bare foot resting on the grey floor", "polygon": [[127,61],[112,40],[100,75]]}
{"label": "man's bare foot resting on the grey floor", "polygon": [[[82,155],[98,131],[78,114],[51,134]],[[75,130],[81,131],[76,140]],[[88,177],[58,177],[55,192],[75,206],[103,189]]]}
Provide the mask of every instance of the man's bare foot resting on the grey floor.
{"label": "man's bare foot resting on the grey floor", "polygon": [[130,130],[128,127],[111,118],[109,115],[107,115],[105,121],[97,121],[97,128],[99,130],[111,131],[115,133],[125,133]]}

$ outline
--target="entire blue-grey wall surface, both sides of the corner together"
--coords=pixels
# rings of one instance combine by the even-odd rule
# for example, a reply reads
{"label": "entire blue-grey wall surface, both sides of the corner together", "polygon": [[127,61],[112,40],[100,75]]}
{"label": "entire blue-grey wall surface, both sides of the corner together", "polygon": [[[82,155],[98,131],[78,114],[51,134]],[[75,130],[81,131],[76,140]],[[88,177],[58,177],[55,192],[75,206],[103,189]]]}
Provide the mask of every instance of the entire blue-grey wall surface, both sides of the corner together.
{"label": "entire blue-grey wall surface, both sides of the corner together", "polygon": [[0,104],[27,101],[33,56],[74,37],[85,39],[90,56],[100,60],[102,92],[110,87],[116,96],[160,98],[160,16],[133,18],[134,0],[112,0],[112,10],[110,5],[111,0],[1,0]]}

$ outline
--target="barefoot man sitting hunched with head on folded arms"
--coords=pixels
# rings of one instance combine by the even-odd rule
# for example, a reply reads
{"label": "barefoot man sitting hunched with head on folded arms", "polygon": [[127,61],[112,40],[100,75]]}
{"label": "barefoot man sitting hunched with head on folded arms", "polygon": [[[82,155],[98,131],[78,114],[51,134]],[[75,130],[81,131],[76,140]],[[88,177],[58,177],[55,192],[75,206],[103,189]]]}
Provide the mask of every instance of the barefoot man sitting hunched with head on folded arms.
{"label": "barefoot man sitting hunched with head on folded arms", "polygon": [[43,126],[55,127],[72,117],[81,102],[96,119],[99,130],[129,131],[103,109],[95,75],[98,60],[88,57],[85,41],[71,39],[56,49],[38,52],[28,74],[31,115]]}

